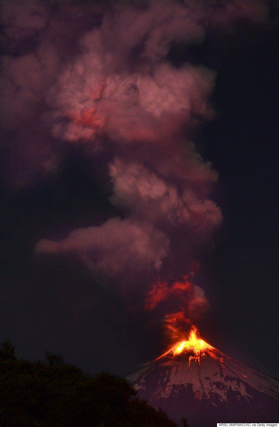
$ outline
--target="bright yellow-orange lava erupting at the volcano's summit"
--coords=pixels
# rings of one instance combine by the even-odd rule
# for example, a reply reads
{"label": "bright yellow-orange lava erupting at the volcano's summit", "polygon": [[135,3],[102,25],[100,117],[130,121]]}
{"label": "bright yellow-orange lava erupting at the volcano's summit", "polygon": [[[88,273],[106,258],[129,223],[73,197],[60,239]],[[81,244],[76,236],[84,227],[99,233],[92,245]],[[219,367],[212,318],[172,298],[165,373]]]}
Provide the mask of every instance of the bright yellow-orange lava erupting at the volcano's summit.
{"label": "bright yellow-orange lava erupting at the volcano's summit", "polygon": [[159,360],[161,357],[166,355],[172,355],[174,357],[179,354],[187,354],[189,356],[189,366],[191,360],[195,360],[200,366],[201,356],[205,356],[209,349],[212,350],[214,347],[203,341],[203,339],[200,339],[197,328],[193,326],[186,341],[177,342],[173,347],[171,347],[168,351],[166,351],[166,353],[162,354],[162,356],[158,357],[156,360]]}

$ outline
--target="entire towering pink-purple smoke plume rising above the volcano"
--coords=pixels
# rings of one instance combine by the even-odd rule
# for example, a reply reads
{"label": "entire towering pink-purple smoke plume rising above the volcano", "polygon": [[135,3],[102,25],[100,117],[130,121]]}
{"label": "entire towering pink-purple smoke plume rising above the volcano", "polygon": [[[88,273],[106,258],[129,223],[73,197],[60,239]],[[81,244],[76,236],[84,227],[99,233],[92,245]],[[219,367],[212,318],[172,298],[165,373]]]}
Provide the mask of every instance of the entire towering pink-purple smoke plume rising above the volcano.
{"label": "entire towering pink-purple smoke plume rising above the volcano", "polygon": [[174,67],[167,55],[172,44],[261,23],[267,12],[255,0],[3,3],[6,178],[44,180],[67,147],[84,147],[107,164],[110,202],[123,215],[42,239],[37,254],[75,257],[120,290],[140,288],[147,311],[170,300],[181,319],[206,310],[193,265],[222,214],[210,198],[218,174],[189,131],[214,116],[215,73]]}

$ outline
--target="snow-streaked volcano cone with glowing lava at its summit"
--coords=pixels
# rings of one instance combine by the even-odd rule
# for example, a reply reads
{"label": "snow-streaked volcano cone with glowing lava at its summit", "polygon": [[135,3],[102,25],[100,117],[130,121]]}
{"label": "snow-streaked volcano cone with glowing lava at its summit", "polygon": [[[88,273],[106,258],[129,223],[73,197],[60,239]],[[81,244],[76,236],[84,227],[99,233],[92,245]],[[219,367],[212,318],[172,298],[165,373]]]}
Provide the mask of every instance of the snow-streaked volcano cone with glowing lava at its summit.
{"label": "snow-streaked volcano cone with glowing lava at its summit", "polygon": [[221,353],[195,329],[127,379],[139,398],[190,427],[278,421],[279,379]]}

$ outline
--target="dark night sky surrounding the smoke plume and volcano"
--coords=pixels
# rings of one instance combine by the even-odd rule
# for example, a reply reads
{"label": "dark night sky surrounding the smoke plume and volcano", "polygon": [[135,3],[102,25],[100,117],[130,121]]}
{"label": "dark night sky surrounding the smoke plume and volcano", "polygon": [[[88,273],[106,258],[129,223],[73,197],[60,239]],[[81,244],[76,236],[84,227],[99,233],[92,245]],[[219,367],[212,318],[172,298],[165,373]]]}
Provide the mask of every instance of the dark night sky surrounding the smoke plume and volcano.
{"label": "dark night sky surrounding the smoke plume and volcano", "polygon": [[[212,198],[224,216],[195,278],[210,303],[197,322],[201,336],[273,375],[279,322],[278,57],[278,33],[267,25],[207,35],[190,48],[172,44],[166,58],[174,66],[190,61],[217,73],[210,97],[215,118],[191,131],[198,151],[219,173]],[[12,134],[5,135],[10,142]],[[38,240],[55,239],[57,230],[66,236],[92,225],[92,217],[101,224],[119,215],[108,200],[102,161],[92,168],[83,148],[71,145],[52,177],[19,186],[6,158],[4,146],[0,337],[9,337],[20,357],[35,360],[51,350],[93,373],[125,374],[163,353],[160,321],[137,303],[128,306],[110,290],[112,279],[92,275],[76,260],[34,254]]]}

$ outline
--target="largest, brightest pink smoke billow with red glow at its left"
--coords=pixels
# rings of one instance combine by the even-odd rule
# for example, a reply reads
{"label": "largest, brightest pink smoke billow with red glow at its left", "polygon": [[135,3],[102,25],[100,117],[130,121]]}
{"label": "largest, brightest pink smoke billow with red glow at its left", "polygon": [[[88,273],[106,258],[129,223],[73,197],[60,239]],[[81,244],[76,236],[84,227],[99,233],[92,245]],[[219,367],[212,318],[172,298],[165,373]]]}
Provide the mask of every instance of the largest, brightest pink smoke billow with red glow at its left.
{"label": "largest, brightest pink smoke billow with red glow at its left", "polygon": [[[154,65],[152,74],[126,70],[111,74],[94,31],[90,47],[58,77],[49,102],[55,109],[53,132],[69,141],[106,135],[120,143],[153,143],[184,123],[212,117],[208,103],[214,74],[203,67],[179,70]],[[91,114],[88,114],[91,113]],[[86,115],[87,120],[76,121]]]}

